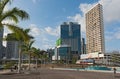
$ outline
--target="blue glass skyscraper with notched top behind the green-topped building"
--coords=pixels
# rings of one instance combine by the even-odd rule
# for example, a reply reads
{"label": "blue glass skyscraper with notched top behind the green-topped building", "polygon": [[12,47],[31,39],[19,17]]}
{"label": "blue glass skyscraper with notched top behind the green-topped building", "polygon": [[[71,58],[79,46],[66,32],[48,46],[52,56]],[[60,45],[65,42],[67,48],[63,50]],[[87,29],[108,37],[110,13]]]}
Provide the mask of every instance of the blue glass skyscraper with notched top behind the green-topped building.
{"label": "blue glass skyscraper with notched top behind the green-topped building", "polygon": [[80,55],[81,53],[81,33],[80,25],[73,22],[64,22],[61,26],[61,45],[71,47],[72,54]]}

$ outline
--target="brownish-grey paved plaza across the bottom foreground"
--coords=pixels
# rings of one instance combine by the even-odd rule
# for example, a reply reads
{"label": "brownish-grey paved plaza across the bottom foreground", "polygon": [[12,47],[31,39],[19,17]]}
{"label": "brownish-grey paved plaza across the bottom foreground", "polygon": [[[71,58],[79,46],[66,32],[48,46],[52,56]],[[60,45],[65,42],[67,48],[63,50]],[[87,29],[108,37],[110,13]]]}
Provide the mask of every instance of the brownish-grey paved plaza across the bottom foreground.
{"label": "brownish-grey paved plaza across the bottom foreground", "polygon": [[120,79],[120,73],[40,69],[24,74],[3,74],[0,79]]}

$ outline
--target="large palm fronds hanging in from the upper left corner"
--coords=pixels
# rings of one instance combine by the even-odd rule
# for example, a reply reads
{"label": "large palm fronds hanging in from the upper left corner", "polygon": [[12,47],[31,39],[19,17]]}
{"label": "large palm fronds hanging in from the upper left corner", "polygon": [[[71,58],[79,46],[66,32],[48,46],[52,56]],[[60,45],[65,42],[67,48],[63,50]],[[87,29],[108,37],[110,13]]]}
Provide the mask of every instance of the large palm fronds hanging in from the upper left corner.
{"label": "large palm fronds hanging in from the upper left corner", "polygon": [[18,31],[19,29],[17,25],[14,25],[13,23],[5,23],[4,21],[12,20],[13,22],[18,23],[19,19],[29,19],[29,15],[27,12],[18,9],[17,7],[4,11],[5,6],[11,2],[12,0],[0,0],[0,29],[3,29],[4,26],[6,26],[12,31]]}

